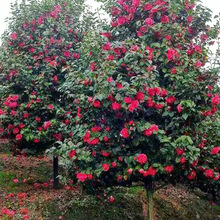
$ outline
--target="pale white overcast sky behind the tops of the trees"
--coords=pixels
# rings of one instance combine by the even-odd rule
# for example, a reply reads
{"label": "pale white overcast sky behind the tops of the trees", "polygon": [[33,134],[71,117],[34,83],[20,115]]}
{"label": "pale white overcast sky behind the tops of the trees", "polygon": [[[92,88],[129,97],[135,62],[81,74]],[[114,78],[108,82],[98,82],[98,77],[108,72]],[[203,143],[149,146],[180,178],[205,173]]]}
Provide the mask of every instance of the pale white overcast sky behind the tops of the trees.
{"label": "pale white overcast sky behind the tops of the trees", "polygon": [[[89,5],[95,7],[97,3],[94,0],[87,0]],[[220,0],[202,0],[203,4],[209,7],[214,14],[220,12]],[[4,22],[5,18],[10,16],[10,3],[15,2],[15,0],[1,0],[0,3],[0,35],[7,28],[7,24]]]}

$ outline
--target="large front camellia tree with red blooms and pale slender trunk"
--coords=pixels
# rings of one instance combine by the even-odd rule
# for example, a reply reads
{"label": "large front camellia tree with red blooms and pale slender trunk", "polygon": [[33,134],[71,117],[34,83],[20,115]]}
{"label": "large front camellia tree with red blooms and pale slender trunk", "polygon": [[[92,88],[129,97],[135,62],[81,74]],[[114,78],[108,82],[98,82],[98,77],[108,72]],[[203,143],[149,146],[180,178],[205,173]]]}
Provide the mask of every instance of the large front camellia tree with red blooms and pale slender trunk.
{"label": "large front camellia tree with red blooms and pale slender trunk", "polygon": [[211,128],[220,104],[219,68],[206,65],[218,25],[209,27],[211,12],[193,0],[110,3],[103,44],[85,46],[89,55],[63,86],[76,117],[59,152],[91,191],[144,186],[152,220],[164,184],[219,182],[219,147],[202,126]]}

